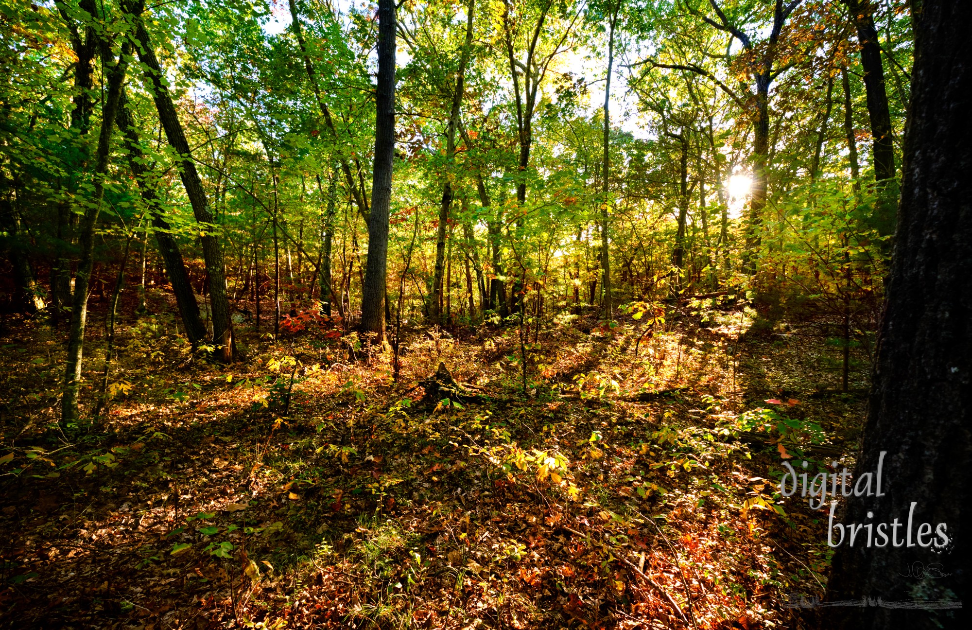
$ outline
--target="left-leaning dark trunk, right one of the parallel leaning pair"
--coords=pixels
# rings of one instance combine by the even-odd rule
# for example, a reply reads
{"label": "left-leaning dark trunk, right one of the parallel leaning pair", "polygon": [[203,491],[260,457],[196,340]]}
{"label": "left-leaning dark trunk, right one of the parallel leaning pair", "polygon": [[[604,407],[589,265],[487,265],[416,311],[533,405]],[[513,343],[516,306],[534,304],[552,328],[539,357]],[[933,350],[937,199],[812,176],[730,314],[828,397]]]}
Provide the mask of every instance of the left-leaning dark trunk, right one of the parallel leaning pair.
{"label": "left-leaning dark trunk, right one of the parallel leaning pair", "polygon": [[192,214],[200,225],[199,242],[202,245],[202,258],[206,262],[209,278],[209,302],[213,321],[213,343],[217,346],[216,356],[228,363],[233,356],[233,331],[229,313],[229,299],[226,297],[226,269],[223,248],[216,236],[215,218],[202,188],[202,180],[195,170],[189,142],[183,130],[168,88],[162,84],[164,74],[152,48],[149,31],[142,20],[145,11],[144,0],[122,0],[122,11],[131,16],[135,24],[135,39],[138,41],[138,57],[147,67],[146,79],[152,84],[153,98],[156,101],[158,120],[165,131],[169,146],[179,155],[179,175],[192,206]]}

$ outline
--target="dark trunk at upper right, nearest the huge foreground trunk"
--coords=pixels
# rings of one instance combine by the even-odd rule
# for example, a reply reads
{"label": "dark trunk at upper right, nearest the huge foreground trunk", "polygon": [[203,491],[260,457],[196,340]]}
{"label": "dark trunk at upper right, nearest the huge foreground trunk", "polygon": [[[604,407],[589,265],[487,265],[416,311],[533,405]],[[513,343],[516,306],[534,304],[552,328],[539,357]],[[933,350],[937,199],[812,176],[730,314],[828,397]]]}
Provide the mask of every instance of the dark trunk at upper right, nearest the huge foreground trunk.
{"label": "dark trunk at upper right, nearest the huge foreground trunk", "polygon": [[871,119],[871,138],[874,142],[871,157],[874,160],[874,179],[878,182],[878,204],[873,225],[881,234],[890,234],[894,231],[897,186],[881,44],[874,26],[874,7],[870,0],[847,0],[847,3],[857,29],[860,64],[864,69],[864,88],[867,91],[867,113]]}

